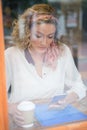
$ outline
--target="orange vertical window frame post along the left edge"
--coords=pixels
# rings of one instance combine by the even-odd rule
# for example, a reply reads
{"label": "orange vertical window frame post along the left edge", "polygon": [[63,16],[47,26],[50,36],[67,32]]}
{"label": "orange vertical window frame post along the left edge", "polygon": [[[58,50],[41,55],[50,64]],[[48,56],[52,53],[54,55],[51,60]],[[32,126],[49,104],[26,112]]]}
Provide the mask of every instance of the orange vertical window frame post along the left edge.
{"label": "orange vertical window frame post along the left edge", "polygon": [[2,3],[0,0],[0,130],[9,130],[4,62],[4,34],[2,21]]}

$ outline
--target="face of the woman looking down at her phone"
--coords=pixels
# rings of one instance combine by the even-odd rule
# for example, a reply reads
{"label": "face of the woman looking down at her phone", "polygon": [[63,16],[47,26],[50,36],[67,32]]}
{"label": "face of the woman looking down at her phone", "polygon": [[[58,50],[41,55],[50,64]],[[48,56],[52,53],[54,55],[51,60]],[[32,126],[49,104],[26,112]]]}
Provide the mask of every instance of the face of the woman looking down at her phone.
{"label": "face of the woman looking down at her phone", "polygon": [[54,40],[55,25],[42,23],[39,25],[34,24],[31,28],[31,48],[33,51],[43,54]]}

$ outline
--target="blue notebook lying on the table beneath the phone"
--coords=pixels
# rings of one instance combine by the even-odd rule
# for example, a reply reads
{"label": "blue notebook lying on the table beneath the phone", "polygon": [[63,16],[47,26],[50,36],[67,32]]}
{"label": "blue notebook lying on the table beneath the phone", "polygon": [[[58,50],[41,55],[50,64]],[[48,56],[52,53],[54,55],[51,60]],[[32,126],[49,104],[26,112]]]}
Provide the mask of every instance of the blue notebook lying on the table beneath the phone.
{"label": "blue notebook lying on the table beneath the phone", "polygon": [[[52,102],[56,102],[60,98],[64,98],[64,96],[54,97]],[[42,126],[62,125],[87,120],[86,114],[83,114],[71,105],[68,105],[62,110],[49,110],[49,104],[36,105],[35,117]]]}

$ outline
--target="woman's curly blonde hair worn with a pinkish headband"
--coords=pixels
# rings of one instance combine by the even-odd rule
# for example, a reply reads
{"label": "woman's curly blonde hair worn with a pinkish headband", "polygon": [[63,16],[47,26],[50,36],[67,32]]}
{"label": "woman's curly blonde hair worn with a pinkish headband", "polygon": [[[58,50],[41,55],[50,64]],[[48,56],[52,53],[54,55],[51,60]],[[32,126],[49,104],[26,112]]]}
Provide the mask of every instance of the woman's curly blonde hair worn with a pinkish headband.
{"label": "woman's curly blonde hair worn with a pinkish headband", "polygon": [[[38,16],[47,16],[44,18],[38,18]],[[50,17],[48,17],[50,16]],[[36,20],[34,21],[34,18]],[[37,19],[38,18],[38,19]],[[30,33],[31,27],[34,23],[52,23],[56,26],[55,42],[58,43],[57,25],[58,16],[55,9],[48,4],[36,4],[31,8],[25,10],[25,12],[19,16],[18,20],[13,22],[12,37],[15,44],[22,49],[30,46]]]}

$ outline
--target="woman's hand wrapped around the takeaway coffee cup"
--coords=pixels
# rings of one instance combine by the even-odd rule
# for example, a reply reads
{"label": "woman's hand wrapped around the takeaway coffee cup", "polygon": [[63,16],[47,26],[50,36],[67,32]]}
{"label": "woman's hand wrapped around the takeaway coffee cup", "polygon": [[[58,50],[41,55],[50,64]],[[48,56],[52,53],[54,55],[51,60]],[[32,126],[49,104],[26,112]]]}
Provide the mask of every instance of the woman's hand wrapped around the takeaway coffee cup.
{"label": "woman's hand wrapped around the takeaway coffee cup", "polygon": [[12,117],[13,121],[16,123],[18,126],[24,125],[24,118],[22,116],[22,113],[17,109],[16,103],[9,103],[8,104],[8,112],[9,115]]}

